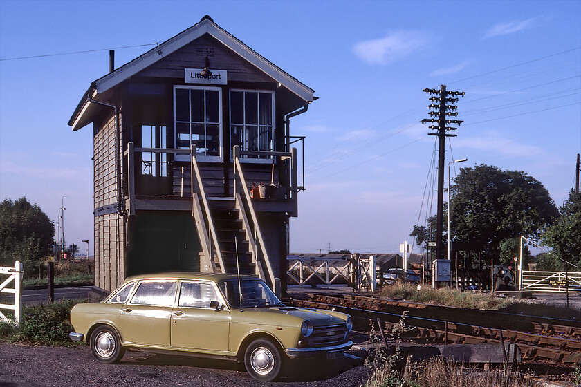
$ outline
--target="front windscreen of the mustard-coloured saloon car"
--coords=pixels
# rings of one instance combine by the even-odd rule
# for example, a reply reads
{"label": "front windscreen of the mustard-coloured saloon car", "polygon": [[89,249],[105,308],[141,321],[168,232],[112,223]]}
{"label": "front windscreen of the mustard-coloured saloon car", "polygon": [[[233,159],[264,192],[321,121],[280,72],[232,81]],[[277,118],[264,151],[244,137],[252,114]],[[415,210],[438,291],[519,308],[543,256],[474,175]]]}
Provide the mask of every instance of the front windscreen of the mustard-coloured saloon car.
{"label": "front windscreen of the mustard-coloured saloon car", "polygon": [[[220,291],[232,308],[259,308],[283,305],[272,290],[260,280],[227,280],[220,283]],[[242,296],[240,296],[240,290]]]}

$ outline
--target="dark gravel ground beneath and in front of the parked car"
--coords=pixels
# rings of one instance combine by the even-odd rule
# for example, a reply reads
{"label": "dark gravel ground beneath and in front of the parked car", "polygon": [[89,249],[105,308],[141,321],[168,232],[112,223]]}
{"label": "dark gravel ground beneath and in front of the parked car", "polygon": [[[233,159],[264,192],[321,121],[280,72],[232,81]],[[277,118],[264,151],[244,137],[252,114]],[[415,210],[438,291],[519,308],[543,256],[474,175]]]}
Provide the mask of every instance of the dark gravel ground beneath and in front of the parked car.
{"label": "dark gravel ground beneath and in front of the parked car", "polygon": [[0,387],[280,386],[360,387],[365,366],[345,357],[333,366],[304,364],[273,383],[252,379],[232,361],[126,352],[120,364],[93,360],[89,346],[0,344]]}

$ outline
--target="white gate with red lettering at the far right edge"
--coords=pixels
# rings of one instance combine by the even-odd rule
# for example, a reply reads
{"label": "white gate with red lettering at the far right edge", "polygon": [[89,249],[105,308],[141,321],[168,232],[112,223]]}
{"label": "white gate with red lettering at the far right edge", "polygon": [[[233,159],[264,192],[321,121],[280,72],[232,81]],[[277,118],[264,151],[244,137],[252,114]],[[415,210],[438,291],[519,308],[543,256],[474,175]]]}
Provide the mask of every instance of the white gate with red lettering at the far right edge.
{"label": "white gate with red lettering at the far right edge", "polygon": [[521,289],[535,292],[581,292],[581,273],[523,270]]}

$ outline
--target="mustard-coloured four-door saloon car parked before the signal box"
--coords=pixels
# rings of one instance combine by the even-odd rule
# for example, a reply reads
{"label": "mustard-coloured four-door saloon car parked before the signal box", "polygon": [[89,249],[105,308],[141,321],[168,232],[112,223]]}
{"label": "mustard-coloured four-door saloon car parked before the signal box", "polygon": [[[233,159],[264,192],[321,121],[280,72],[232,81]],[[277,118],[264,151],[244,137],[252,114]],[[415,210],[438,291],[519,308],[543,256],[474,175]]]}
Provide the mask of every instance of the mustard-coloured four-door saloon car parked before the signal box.
{"label": "mustard-coloured four-door saloon car parked before the signal box", "polygon": [[101,303],[71,310],[74,341],[116,363],[127,348],[241,361],[259,380],[301,357],[337,359],[353,344],[351,317],[285,306],[261,279],[233,274],[134,276]]}

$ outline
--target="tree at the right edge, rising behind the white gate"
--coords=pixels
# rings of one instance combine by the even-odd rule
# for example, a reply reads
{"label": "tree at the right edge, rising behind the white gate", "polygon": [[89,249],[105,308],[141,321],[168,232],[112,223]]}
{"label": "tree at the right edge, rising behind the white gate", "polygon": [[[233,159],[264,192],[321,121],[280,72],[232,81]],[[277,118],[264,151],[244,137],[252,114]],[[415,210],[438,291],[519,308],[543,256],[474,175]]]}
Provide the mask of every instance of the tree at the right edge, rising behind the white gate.
{"label": "tree at the right edge, rising behind the white gate", "polygon": [[542,240],[549,247],[553,247],[552,254],[545,257],[543,267],[564,269],[564,262],[569,261],[581,268],[581,193],[571,190],[569,198],[559,208],[560,216],[557,221],[547,227]]}

